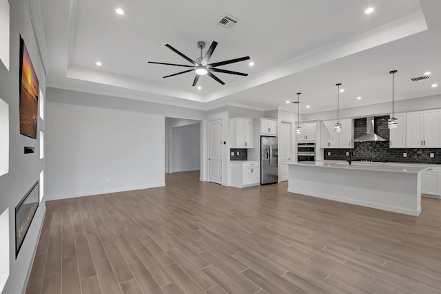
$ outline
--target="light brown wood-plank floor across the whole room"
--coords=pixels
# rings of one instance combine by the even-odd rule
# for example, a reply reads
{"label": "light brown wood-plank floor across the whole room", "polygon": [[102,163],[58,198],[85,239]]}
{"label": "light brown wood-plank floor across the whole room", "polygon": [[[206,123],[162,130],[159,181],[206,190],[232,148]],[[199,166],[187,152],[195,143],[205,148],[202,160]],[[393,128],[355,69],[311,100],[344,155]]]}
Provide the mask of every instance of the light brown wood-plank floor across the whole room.
{"label": "light brown wood-plank floor across the whole room", "polygon": [[46,202],[30,293],[441,293],[441,202],[420,217],[167,175]]}

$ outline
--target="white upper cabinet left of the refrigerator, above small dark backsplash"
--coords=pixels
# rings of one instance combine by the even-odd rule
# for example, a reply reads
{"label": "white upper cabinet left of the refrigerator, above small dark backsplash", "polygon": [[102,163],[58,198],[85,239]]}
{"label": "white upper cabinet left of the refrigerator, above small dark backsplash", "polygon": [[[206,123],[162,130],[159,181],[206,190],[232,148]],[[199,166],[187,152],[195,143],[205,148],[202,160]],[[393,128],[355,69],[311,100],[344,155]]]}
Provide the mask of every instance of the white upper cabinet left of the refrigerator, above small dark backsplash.
{"label": "white upper cabinet left of the refrigerator, above small dark backsplash", "polygon": [[254,148],[254,125],[251,118],[230,118],[230,148]]}

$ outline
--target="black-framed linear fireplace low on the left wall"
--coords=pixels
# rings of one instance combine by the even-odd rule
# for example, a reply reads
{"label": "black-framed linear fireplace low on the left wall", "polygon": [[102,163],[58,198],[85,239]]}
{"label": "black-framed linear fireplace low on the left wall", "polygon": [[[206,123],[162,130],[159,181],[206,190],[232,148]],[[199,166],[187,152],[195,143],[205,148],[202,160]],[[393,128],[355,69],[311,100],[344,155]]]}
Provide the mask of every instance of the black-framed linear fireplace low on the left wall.
{"label": "black-framed linear fireplace low on the left wall", "polygon": [[37,181],[15,207],[15,258],[19,255],[21,245],[38,207],[39,182]]}

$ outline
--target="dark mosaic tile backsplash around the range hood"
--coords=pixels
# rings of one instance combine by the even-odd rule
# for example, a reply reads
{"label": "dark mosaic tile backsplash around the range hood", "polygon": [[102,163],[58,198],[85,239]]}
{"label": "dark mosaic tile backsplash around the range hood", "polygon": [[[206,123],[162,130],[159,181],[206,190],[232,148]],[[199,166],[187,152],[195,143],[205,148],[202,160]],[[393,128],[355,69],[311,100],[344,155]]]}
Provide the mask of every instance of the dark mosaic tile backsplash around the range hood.
{"label": "dark mosaic tile backsplash around the range hood", "polygon": [[[389,116],[374,119],[375,133],[389,140],[387,120]],[[357,118],[354,124],[354,138],[366,134],[366,118]],[[347,160],[346,152],[351,149],[325,149],[325,160]],[[356,142],[354,143],[353,160],[382,160],[402,163],[441,164],[441,148],[389,148],[387,142]],[[330,155],[328,155],[330,152]],[[403,157],[406,153],[407,157]],[[433,154],[433,158],[430,154]]]}

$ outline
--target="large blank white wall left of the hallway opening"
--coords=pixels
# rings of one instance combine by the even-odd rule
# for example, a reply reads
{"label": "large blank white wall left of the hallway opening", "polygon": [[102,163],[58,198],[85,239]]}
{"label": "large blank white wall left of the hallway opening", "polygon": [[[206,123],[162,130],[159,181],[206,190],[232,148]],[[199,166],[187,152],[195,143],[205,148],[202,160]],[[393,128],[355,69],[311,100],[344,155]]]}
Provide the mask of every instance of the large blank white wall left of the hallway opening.
{"label": "large blank white wall left of the hallway opening", "polygon": [[[65,103],[63,94],[95,105]],[[46,97],[47,198],[165,185],[165,116],[97,107],[105,98],[81,92],[50,89]]]}

